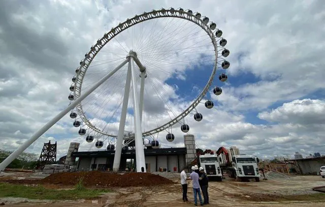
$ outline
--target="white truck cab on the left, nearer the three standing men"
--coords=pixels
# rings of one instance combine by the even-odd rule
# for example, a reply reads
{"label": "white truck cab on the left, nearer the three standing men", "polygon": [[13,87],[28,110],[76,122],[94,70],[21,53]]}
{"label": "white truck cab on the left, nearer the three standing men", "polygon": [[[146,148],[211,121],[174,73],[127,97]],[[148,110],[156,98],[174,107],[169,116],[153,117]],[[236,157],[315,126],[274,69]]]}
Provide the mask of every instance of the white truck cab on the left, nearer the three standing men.
{"label": "white truck cab on the left, nearer the three standing men", "polygon": [[204,172],[208,178],[215,178],[217,181],[222,181],[221,168],[218,162],[217,155],[200,155],[199,156],[200,167],[203,167]]}

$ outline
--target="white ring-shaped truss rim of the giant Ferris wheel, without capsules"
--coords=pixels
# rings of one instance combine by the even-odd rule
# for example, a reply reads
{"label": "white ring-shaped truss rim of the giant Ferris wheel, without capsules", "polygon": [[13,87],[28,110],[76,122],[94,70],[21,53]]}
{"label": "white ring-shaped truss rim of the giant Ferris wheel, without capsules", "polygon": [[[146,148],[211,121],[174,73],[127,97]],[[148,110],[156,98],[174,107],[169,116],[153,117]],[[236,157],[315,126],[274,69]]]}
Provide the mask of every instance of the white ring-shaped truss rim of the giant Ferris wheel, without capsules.
{"label": "white ring-shaped truss rim of the giant Ferris wheel, without capsules", "polygon": [[[199,12],[196,12],[196,13],[199,13]],[[205,97],[205,95],[209,91],[209,88],[213,82],[216,70],[218,68],[217,67],[217,65],[218,65],[218,47],[222,47],[222,46],[218,46],[216,36],[214,35],[214,32],[213,32],[214,29],[211,29],[210,26],[201,19],[201,15],[200,15],[200,17],[197,17],[196,15],[194,15],[194,13],[188,13],[186,11],[181,11],[181,10],[160,9],[157,11],[152,10],[151,12],[144,12],[141,15],[136,15],[135,17],[133,17],[131,19],[127,19],[126,21],[119,23],[119,25],[112,28],[110,32],[104,34],[104,36],[101,39],[99,39],[97,41],[97,43],[90,48],[90,51],[86,53],[86,55],[89,54],[89,56],[85,56],[85,58],[83,60],[81,60],[81,62],[80,62],[80,67],[77,68],[78,73],[75,76],[76,80],[74,81],[74,88],[75,88],[74,93],[73,93],[74,97],[75,97],[74,100],[76,100],[76,98],[80,97],[80,95],[81,95],[83,79],[85,77],[87,69],[90,66],[92,60],[95,58],[96,54],[98,54],[101,51],[101,49],[110,40],[115,38],[118,34],[122,33],[127,28],[132,27],[133,25],[136,25],[138,23],[148,21],[151,19],[166,18],[166,17],[180,18],[180,19],[184,19],[184,20],[193,22],[194,24],[200,26],[207,33],[207,35],[210,37],[210,39],[212,41],[212,45],[213,45],[214,51],[215,51],[214,66],[213,66],[213,70],[212,70],[212,73],[210,75],[210,78],[209,78],[207,84],[205,85],[202,92],[200,93],[200,95],[197,97],[197,99],[195,101],[193,101],[182,113],[180,113],[178,116],[176,116],[173,120],[161,125],[160,127],[155,128],[155,129],[151,129],[151,130],[142,132],[142,136],[145,137],[145,136],[150,136],[150,135],[159,133],[159,132],[164,131],[164,130],[172,127],[173,125],[179,123],[181,120],[183,120],[193,109],[195,109],[200,104],[201,100]],[[90,129],[92,129],[93,131],[95,131],[99,134],[102,134],[102,135],[106,135],[106,136],[113,137],[113,138],[117,137],[117,135],[109,134],[109,133],[106,133],[106,132],[101,131],[100,129],[96,128],[87,119],[86,114],[83,111],[81,102],[76,106],[76,109],[78,111],[78,115],[80,116],[81,120]]]}

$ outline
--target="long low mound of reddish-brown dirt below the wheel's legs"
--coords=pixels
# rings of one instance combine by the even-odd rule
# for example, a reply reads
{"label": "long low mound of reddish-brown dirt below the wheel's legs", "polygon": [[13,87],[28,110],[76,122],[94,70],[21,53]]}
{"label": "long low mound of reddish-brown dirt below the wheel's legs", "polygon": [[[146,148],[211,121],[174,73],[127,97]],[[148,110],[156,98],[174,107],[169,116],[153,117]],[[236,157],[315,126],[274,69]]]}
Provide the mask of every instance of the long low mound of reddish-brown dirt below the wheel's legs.
{"label": "long low mound of reddish-brown dirt below the wheel's legs", "polygon": [[40,180],[40,184],[76,185],[82,179],[86,187],[137,187],[173,184],[174,182],[160,175],[151,173],[129,172],[118,174],[113,172],[60,172]]}

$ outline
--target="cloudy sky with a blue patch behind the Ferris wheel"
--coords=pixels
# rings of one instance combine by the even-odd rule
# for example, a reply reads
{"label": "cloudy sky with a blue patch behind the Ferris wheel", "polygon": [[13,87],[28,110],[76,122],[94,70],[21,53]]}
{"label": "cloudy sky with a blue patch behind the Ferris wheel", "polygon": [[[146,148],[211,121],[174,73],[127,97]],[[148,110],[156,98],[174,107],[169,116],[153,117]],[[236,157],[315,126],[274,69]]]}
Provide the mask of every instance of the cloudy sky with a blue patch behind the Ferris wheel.
{"label": "cloudy sky with a blue patch behind the Ferris wheel", "polygon": [[[230,68],[217,70],[212,87],[195,109],[203,120],[194,121],[193,113],[183,120],[198,147],[237,146],[241,153],[261,158],[293,156],[295,152],[325,154],[325,5],[321,0],[13,0],[1,5],[2,150],[17,149],[70,104],[69,87],[80,60],[112,27],[144,11],[181,7],[215,22],[230,50],[225,58]],[[125,60],[129,48],[135,49],[148,74],[144,131],[187,108],[203,90],[213,68],[211,40],[199,27],[181,19],[150,21],[107,44],[88,69],[82,87],[84,92]],[[126,69],[127,65],[82,102],[86,116],[108,134],[118,129]],[[139,83],[137,66],[135,69]],[[227,81],[219,81],[221,73],[228,75]],[[222,88],[221,95],[213,94],[214,86]],[[205,108],[205,100],[212,100],[214,107]],[[129,130],[134,129],[132,108],[130,97],[125,126]],[[57,141],[57,157],[67,154],[70,142],[80,142],[79,151],[97,150],[94,142],[87,143],[85,136],[78,135],[73,121],[68,113],[26,152],[40,154],[49,140]],[[154,138],[162,147],[184,147],[181,124]],[[167,133],[175,134],[173,142],[166,140]],[[96,139],[110,141],[105,136]]]}

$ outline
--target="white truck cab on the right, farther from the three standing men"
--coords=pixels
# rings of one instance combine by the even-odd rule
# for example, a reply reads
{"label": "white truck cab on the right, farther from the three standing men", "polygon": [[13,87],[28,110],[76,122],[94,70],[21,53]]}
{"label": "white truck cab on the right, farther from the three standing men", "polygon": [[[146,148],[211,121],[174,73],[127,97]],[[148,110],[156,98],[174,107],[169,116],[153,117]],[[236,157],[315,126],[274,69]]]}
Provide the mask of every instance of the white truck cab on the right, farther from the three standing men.
{"label": "white truck cab on the right, farther from the three standing men", "polygon": [[254,178],[256,182],[259,182],[261,175],[257,166],[258,162],[258,158],[253,155],[232,156],[232,167],[239,179]]}

